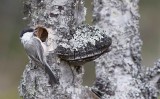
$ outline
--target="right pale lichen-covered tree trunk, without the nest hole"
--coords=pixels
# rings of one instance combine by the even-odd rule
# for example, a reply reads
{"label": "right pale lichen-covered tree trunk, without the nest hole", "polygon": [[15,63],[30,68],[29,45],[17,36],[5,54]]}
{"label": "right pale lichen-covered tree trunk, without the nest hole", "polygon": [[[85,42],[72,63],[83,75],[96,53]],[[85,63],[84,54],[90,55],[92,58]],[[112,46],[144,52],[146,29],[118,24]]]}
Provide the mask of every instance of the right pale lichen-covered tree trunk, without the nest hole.
{"label": "right pale lichen-covered tree trunk, without the nest hole", "polygon": [[141,66],[139,0],[94,0],[93,23],[112,38],[112,50],[97,59],[94,88],[104,99],[157,99],[159,61]]}

